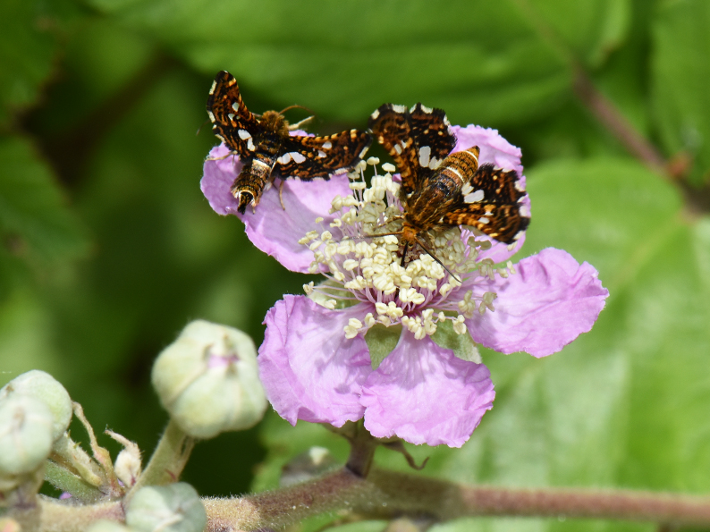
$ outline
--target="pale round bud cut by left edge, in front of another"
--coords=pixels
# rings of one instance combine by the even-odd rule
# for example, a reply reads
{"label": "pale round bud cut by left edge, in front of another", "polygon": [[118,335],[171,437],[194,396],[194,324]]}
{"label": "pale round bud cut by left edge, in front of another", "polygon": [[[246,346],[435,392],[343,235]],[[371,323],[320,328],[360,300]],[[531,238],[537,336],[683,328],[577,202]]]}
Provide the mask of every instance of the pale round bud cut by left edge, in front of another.
{"label": "pale round bud cut by left edge, in front of another", "polygon": [[52,426],[44,401],[20,393],[0,400],[0,474],[37,469],[52,450]]}

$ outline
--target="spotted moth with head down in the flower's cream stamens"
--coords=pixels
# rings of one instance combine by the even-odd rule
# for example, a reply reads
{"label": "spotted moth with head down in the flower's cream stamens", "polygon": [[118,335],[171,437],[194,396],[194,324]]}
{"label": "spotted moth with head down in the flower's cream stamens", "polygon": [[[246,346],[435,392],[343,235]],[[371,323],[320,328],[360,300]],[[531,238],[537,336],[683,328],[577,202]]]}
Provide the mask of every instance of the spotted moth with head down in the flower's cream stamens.
{"label": "spotted moth with head down in the flower's cream stamens", "polygon": [[511,244],[528,227],[518,173],[478,165],[478,146],[451,153],[456,137],[442,109],[385,104],[368,125],[401,173],[402,266],[417,245],[431,255],[432,231],[469,225]]}

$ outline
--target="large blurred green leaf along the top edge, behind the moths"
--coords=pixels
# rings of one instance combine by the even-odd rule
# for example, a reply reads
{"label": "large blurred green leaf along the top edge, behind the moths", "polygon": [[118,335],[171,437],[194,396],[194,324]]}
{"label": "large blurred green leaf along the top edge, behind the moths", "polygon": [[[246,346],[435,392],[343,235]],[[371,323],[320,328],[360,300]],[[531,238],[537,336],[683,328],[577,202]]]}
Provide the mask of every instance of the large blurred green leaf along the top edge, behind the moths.
{"label": "large blurred green leaf along the top edge, behind the moths", "polygon": [[454,123],[496,127],[545,114],[568,94],[569,58],[543,37],[547,26],[571,39],[562,48],[599,63],[621,39],[628,11],[626,0],[536,3],[536,24],[515,2],[92,4],[157,36],[206,75],[231,71],[250,106],[258,98],[298,102],[364,124],[385,101],[423,101]]}

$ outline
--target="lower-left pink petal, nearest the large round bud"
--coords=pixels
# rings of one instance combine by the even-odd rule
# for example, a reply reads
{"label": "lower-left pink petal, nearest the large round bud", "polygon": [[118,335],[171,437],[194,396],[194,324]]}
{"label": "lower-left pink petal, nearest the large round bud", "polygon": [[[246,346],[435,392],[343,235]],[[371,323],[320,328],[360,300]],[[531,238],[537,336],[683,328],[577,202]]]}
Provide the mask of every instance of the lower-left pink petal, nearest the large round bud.
{"label": "lower-left pink petal, nearest the large round bud", "polygon": [[346,339],[342,329],[363,315],[359,305],[328,310],[292,295],[266,313],[259,376],[282,418],[334,426],[362,418],[359,393],[372,373],[368,346],[360,336]]}

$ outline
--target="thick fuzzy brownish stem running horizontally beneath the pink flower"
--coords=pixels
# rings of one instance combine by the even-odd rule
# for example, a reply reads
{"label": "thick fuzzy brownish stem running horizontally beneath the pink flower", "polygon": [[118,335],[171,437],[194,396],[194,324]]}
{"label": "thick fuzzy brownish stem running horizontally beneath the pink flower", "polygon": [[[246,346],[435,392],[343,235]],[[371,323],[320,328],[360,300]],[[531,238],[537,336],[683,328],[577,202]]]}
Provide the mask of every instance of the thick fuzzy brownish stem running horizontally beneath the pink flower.
{"label": "thick fuzzy brownish stem running horizontally beneath the pink flower", "polygon": [[631,490],[510,489],[465,486],[433,478],[342,469],[277,492],[207,499],[207,530],[280,528],[325,511],[369,519],[427,515],[437,521],[475,516],[621,519],[710,527],[710,497]]}

